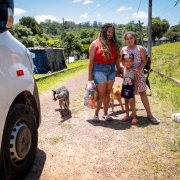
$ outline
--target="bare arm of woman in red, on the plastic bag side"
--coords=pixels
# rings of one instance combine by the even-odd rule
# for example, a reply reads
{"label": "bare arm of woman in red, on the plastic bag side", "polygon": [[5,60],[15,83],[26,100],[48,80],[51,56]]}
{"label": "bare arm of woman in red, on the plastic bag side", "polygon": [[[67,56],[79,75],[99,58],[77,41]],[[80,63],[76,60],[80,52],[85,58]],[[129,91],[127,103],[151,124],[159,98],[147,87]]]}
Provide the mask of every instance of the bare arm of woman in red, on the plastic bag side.
{"label": "bare arm of woman in red, on the plastic bag side", "polygon": [[93,66],[94,66],[94,57],[96,52],[96,41],[93,41],[89,47],[89,77],[88,81],[93,80]]}

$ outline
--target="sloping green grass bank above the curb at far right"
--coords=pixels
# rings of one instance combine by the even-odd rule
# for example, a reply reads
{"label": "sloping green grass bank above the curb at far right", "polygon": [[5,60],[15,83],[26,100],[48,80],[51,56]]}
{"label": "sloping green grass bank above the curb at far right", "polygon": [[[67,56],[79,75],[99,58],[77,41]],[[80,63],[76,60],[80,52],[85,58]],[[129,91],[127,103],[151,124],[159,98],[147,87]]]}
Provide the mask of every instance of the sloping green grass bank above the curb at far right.
{"label": "sloping green grass bank above the curb at far right", "polygon": [[180,80],[180,42],[153,47],[152,69]]}

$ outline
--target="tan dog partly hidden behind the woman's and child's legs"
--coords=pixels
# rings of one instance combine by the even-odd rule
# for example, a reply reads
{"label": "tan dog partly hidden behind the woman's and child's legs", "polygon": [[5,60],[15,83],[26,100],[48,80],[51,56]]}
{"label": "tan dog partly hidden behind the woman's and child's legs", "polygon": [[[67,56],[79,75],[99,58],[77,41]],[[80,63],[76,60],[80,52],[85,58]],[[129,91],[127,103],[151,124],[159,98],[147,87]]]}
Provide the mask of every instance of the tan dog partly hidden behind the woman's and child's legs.
{"label": "tan dog partly hidden behind the woman's and child's legs", "polygon": [[111,93],[110,93],[110,104],[112,106],[112,111],[114,110],[114,100],[117,100],[119,104],[121,105],[122,111],[124,112],[124,106],[121,101],[121,91],[122,91],[122,85],[118,85],[117,87],[113,86]]}

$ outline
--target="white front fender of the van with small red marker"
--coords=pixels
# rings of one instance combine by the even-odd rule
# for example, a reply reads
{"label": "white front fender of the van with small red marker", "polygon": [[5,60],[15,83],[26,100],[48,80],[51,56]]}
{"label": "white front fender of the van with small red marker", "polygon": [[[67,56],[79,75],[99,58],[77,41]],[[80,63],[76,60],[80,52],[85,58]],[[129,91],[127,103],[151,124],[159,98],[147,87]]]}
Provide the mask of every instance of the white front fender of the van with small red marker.
{"label": "white front fender of the van with small red marker", "polygon": [[26,90],[33,94],[34,77],[24,45],[17,41],[8,31],[0,34],[0,42],[3,43],[3,62],[9,87],[8,104],[10,106],[20,92]]}

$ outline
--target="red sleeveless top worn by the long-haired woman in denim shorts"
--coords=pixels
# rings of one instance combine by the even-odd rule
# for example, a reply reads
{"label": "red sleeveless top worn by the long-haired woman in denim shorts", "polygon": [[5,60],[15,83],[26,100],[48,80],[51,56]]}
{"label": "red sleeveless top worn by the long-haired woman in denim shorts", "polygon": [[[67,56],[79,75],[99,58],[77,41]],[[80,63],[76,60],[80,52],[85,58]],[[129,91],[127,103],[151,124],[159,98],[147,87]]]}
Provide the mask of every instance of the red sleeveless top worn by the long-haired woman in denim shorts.
{"label": "red sleeveless top worn by the long-haired woman in denim shorts", "polygon": [[116,58],[116,49],[111,42],[111,52],[112,52],[112,58],[109,59],[104,59],[104,56],[102,56],[102,51],[100,49],[100,42],[99,39],[96,39],[96,52],[95,52],[95,57],[94,57],[94,64],[113,64],[115,63],[115,58]]}

